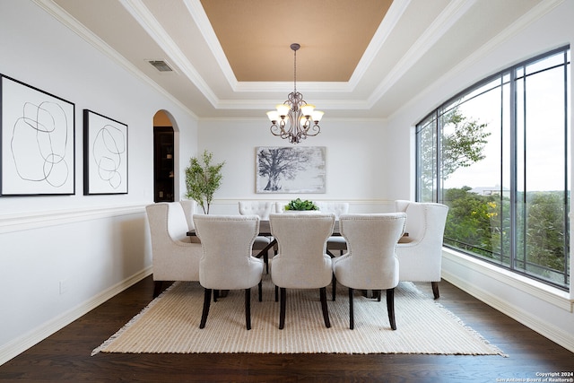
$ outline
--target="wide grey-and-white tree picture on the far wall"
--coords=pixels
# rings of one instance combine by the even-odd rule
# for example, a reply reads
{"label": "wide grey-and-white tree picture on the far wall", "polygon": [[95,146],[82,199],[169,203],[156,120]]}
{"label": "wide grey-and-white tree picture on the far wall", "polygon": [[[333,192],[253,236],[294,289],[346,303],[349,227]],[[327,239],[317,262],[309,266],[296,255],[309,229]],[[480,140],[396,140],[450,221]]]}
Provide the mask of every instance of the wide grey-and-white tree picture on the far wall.
{"label": "wide grey-and-white tree picture on the far wall", "polygon": [[261,146],[256,151],[257,193],[325,193],[325,146]]}

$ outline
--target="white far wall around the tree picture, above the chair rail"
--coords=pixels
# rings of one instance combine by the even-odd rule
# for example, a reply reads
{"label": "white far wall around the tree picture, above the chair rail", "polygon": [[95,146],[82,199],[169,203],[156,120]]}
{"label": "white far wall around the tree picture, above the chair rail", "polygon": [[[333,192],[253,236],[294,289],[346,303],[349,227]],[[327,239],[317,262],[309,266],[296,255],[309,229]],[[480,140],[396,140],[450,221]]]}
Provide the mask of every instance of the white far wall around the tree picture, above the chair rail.
{"label": "white far wall around the tree picture, above the chair rail", "polygon": [[[256,147],[291,146],[271,135],[269,120],[200,120],[199,150],[213,152],[213,161],[226,161],[222,187],[215,193],[213,212],[237,213],[239,199],[288,201],[296,197],[311,200],[349,201],[351,212],[387,211],[393,194],[408,197],[408,174],[398,180],[388,178],[390,157],[387,124],[383,120],[321,120],[321,133],[301,142],[301,146],[326,147],[326,193],[324,194],[257,194]],[[406,131],[408,132],[408,126]],[[403,189],[395,183],[403,185]],[[404,186],[407,186],[406,189]],[[399,190],[396,192],[396,190]],[[406,191],[405,191],[406,190]]]}

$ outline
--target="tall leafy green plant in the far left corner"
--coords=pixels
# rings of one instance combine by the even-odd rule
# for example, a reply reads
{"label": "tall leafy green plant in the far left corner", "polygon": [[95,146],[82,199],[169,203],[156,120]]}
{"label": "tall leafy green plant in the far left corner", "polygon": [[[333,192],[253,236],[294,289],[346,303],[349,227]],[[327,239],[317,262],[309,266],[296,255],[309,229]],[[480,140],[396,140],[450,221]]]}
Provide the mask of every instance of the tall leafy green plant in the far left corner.
{"label": "tall leafy green plant in the far left corner", "polygon": [[196,157],[189,160],[186,169],[187,198],[193,199],[209,214],[213,194],[222,185],[222,168],[225,161],[212,165],[213,153],[204,151],[201,161]]}

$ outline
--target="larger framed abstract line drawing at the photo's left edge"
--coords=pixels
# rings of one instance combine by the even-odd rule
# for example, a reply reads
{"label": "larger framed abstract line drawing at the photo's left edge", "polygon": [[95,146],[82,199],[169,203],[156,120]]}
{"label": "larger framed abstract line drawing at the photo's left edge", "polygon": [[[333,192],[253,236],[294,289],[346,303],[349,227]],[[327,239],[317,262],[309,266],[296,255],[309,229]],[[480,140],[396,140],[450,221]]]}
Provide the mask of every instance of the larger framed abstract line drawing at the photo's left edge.
{"label": "larger framed abstract line drawing at the photo's left edge", "polygon": [[1,75],[2,196],[75,193],[75,105]]}

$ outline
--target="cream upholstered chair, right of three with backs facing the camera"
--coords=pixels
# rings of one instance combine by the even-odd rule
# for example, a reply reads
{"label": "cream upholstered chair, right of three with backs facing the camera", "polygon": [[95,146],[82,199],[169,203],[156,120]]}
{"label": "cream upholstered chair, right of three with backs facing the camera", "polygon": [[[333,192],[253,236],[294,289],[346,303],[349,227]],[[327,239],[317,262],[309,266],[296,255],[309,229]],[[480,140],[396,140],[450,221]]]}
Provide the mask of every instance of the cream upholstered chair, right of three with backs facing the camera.
{"label": "cream upholstered chair, right of three with backs facing the camera", "polygon": [[[404,232],[405,213],[343,214],[339,229],[347,240],[348,251],[333,259],[333,298],[336,282],[349,288],[349,328],[354,328],[352,298],[354,289],[387,291],[387,311],[391,328],[396,330],[395,287],[399,262],[396,242]],[[402,265],[401,265],[402,266]]]}

